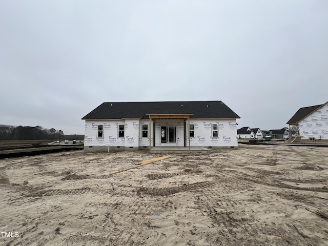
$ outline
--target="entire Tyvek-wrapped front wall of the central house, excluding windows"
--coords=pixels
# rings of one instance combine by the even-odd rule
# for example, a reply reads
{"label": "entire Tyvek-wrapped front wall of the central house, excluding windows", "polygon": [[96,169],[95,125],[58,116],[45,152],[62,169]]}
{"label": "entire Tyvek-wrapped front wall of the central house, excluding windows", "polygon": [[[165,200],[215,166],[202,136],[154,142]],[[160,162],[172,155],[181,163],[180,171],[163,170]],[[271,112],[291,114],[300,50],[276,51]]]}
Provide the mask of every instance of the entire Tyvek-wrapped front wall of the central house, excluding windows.
{"label": "entire Tyvek-wrapped front wall of the central house, excluding windows", "polygon": [[[155,124],[154,124],[155,122]],[[237,124],[236,119],[191,119],[191,124],[195,126],[195,137],[190,138],[190,146],[201,147],[236,147]],[[142,137],[142,124],[148,125],[148,137]],[[186,128],[183,119],[122,119],[122,120],[86,120],[85,128],[85,151],[122,151],[137,150],[153,145],[155,135],[155,146],[189,146],[188,122]],[[218,124],[218,137],[212,137],[212,124]],[[98,126],[103,125],[103,136],[98,137]],[[118,126],[124,125],[124,137],[118,136]],[[155,126],[155,127],[154,127]],[[176,127],[176,142],[161,143],[161,126]],[[154,129],[155,128],[155,129]],[[155,131],[155,134],[154,134]]]}

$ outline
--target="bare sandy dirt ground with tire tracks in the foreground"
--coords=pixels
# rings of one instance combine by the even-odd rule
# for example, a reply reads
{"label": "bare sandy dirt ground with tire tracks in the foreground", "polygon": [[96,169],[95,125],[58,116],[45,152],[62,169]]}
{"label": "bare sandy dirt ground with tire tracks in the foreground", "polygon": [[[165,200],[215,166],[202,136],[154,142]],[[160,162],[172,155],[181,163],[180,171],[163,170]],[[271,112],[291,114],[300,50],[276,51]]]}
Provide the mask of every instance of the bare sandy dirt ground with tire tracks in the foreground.
{"label": "bare sandy dirt ground with tire tracks in the foreground", "polygon": [[328,245],[328,148],[0,160],[0,245]]}

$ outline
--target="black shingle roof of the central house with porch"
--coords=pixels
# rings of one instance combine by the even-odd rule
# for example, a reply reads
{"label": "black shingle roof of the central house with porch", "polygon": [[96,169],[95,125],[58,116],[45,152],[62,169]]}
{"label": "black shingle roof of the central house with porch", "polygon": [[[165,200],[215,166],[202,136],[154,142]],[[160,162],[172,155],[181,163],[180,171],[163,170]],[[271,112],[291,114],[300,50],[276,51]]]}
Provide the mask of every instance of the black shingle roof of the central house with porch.
{"label": "black shingle roof of the central house with porch", "polygon": [[103,103],[82,119],[149,118],[147,114],[193,114],[190,118],[240,118],[222,101]]}

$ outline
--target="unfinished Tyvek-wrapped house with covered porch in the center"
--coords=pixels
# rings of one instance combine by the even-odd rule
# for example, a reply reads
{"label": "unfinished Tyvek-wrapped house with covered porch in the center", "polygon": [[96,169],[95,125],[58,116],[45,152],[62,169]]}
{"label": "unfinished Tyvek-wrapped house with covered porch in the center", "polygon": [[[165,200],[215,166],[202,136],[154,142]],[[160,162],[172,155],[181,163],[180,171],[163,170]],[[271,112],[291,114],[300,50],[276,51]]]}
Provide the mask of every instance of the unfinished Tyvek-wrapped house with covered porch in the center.
{"label": "unfinished Tyvek-wrapped house with covered porch in the center", "polygon": [[240,118],[222,101],[103,103],[85,120],[85,151],[235,147]]}

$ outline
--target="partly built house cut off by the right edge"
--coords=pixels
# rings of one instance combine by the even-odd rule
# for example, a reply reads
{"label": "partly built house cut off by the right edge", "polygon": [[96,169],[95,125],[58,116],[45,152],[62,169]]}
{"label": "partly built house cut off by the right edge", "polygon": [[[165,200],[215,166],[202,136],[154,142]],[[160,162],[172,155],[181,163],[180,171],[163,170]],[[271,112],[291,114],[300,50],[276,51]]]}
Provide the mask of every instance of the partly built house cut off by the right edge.
{"label": "partly built house cut off by the right edge", "polygon": [[302,139],[328,139],[328,101],[300,108],[287,124],[290,127],[298,126]]}

